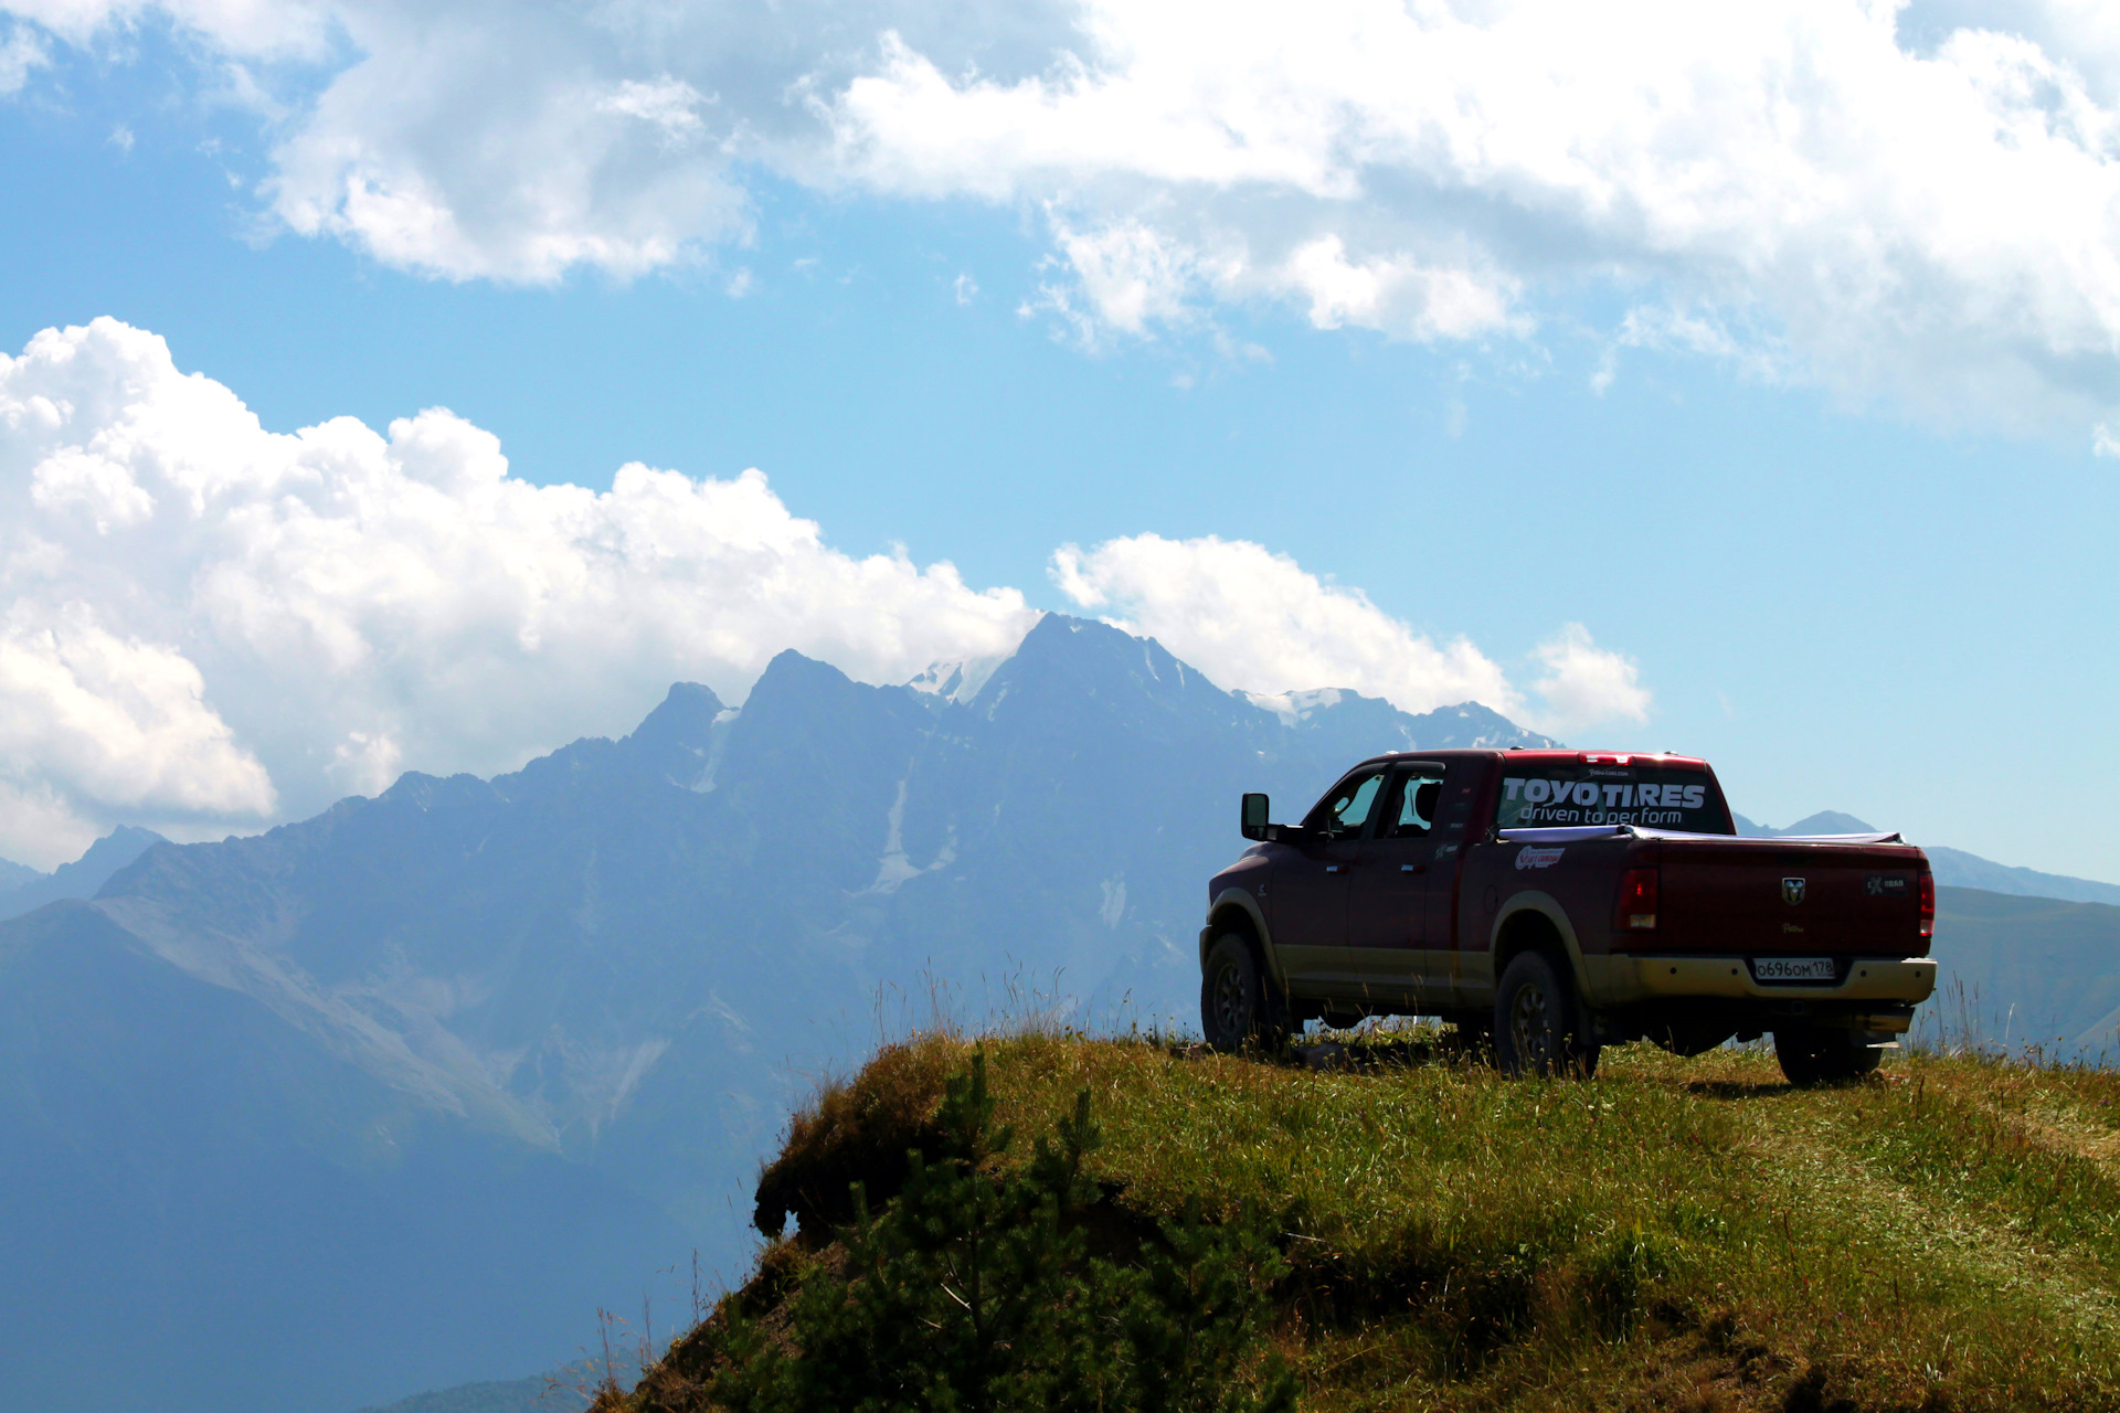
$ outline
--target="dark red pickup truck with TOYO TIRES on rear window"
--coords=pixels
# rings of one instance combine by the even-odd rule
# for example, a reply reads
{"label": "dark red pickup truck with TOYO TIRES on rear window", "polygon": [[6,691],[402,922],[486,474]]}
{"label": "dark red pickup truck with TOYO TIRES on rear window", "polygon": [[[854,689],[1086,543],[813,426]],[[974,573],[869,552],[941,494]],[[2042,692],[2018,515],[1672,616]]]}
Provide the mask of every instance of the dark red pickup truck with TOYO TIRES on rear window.
{"label": "dark red pickup truck with TOYO TIRES on rear window", "polygon": [[1512,1074],[1624,1040],[1772,1032],[1791,1083],[1868,1074],[1936,989],[1929,860],[1900,835],[1738,839],[1707,761],[1435,750],[1363,761],[1208,883],[1215,1047],[1439,1015]]}

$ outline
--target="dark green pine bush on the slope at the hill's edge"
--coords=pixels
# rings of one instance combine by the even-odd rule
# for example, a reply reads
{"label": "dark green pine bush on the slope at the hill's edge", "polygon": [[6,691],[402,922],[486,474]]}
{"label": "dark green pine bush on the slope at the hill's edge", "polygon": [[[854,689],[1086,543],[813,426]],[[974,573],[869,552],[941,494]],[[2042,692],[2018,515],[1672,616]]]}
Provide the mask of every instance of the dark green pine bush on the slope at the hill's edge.
{"label": "dark green pine bush on the slope at the hill's edge", "polygon": [[727,1309],[706,1402],[731,1413],[1287,1413],[1295,1383],[1266,1347],[1285,1265],[1257,1220],[1187,1210],[1134,1260],[1092,1256],[1083,1155],[1090,1091],[1028,1163],[994,1125],[986,1055],[948,1080],[933,1157],[869,1210],[854,1184],[844,1263],[799,1277],[767,1330]]}

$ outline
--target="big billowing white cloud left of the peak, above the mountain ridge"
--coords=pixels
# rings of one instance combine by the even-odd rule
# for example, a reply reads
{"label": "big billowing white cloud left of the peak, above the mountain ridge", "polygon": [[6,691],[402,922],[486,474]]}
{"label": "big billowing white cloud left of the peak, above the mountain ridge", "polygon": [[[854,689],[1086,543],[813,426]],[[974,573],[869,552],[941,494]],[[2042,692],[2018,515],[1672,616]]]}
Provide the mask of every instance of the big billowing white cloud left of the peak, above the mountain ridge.
{"label": "big billowing white cloud left of the peak, above the mountain ridge", "polygon": [[114,320],[0,356],[0,854],[42,864],[119,818],[511,769],[678,678],[742,697],[782,648],[905,680],[1035,621],[831,549],[755,470],[541,487],[439,409],[267,432]]}

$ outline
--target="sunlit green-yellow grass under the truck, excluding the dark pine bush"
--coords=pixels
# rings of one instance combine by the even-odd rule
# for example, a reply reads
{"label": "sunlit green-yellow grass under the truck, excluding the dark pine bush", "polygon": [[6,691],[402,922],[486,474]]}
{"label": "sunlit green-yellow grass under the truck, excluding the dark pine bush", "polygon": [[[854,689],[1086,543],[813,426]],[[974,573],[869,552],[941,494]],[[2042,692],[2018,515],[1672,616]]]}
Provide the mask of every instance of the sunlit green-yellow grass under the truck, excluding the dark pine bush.
{"label": "sunlit green-yellow grass under the truck, excluding the dark pine bush", "polygon": [[[1766,1053],[1626,1047],[1590,1083],[1503,1080],[1433,1034],[1336,1070],[984,1049],[1018,1131],[1088,1089],[1115,1229],[1276,1214],[1272,1341],[1306,1409],[2120,1407],[2120,1074],[1912,1055],[1796,1091]],[[780,1188],[863,1150],[888,1174],[969,1053],[884,1051],[791,1129]],[[810,1227],[731,1299],[829,1260]]]}

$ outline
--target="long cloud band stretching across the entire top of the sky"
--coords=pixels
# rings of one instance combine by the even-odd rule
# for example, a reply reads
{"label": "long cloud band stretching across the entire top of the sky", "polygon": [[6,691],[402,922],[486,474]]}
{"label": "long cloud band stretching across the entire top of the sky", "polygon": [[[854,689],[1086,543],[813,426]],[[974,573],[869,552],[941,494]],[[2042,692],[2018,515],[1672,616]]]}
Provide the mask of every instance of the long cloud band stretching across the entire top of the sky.
{"label": "long cloud band stretching across the entire top of the sky", "polygon": [[[148,15],[278,83],[293,231],[449,280],[759,239],[755,174],[1018,205],[1083,343],[1637,347],[1938,422],[2120,419],[2120,28],[2095,0],[0,0],[0,87]],[[290,76],[284,76],[290,74]],[[280,76],[280,78],[276,78]]]}

